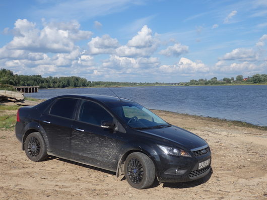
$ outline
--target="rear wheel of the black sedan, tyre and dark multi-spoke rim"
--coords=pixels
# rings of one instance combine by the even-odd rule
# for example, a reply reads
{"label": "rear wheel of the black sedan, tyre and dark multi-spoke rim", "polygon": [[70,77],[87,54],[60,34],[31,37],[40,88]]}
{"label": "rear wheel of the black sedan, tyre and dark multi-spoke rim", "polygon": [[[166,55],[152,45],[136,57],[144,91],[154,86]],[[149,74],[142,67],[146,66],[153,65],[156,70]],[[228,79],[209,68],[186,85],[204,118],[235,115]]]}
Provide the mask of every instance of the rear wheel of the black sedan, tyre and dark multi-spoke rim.
{"label": "rear wheel of the black sedan, tyre and dark multi-spoke rim", "polygon": [[47,158],[44,140],[39,132],[32,132],[27,136],[24,149],[31,161],[38,162]]}

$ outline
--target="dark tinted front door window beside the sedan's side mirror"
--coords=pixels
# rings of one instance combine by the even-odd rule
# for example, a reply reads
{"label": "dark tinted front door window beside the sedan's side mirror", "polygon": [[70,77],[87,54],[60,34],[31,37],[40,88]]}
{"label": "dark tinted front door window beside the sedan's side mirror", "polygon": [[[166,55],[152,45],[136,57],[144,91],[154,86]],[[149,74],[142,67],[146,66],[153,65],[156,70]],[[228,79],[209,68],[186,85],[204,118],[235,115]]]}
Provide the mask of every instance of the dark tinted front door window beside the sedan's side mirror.
{"label": "dark tinted front door window beside the sedan's side mirror", "polygon": [[101,125],[102,121],[113,121],[113,117],[100,105],[91,101],[84,101],[81,106],[79,120]]}

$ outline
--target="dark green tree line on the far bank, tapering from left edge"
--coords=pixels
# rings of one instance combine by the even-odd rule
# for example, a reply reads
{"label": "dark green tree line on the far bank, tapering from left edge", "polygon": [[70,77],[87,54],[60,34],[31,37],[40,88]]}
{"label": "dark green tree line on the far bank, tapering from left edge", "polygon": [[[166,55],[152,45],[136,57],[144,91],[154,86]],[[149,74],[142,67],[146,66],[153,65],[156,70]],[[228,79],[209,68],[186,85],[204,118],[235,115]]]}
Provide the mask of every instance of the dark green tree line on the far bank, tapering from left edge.
{"label": "dark green tree line on the far bank, tapering from left edge", "polygon": [[0,84],[12,86],[39,86],[40,88],[79,88],[79,87],[108,87],[108,86],[138,86],[138,85],[167,85],[163,83],[136,83],[136,82],[111,82],[87,81],[81,77],[46,77],[41,75],[17,75],[11,70],[0,70]]}

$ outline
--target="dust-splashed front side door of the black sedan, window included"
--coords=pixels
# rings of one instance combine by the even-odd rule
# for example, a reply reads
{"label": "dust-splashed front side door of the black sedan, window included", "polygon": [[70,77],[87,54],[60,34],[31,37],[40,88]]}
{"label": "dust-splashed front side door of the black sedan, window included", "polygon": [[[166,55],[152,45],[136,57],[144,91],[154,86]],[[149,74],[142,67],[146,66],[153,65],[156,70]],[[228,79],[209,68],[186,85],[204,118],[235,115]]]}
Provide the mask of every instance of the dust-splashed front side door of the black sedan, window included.
{"label": "dust-splashed front side door of the black sedan, window included", "polygon": [[116,170],[121,146],[117,132],[101,127],[102,121],[116,119],[100,104],[82,101],[78,120],[74,122],[71,147],[78,162],[109,170]]}

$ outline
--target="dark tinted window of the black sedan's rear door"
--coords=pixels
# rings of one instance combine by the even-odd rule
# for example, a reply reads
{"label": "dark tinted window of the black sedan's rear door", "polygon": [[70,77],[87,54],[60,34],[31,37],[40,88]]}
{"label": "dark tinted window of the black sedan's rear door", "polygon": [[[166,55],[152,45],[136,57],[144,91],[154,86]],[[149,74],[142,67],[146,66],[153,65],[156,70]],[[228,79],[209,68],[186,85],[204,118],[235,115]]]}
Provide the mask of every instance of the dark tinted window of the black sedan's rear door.
{"label": "dark tinted window of the black sedan's rear door", "polygon": [[58,99],[52,105],[50,109],[50,114],[73,119],[77,101],[78,101],[77,99],[71,99],[71,98]]}

